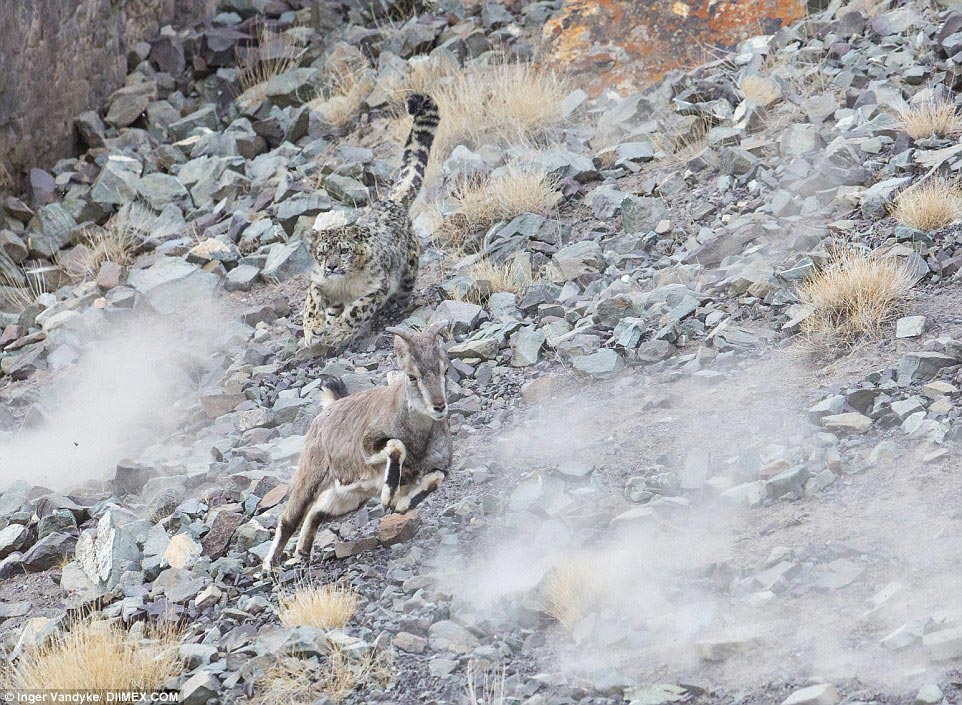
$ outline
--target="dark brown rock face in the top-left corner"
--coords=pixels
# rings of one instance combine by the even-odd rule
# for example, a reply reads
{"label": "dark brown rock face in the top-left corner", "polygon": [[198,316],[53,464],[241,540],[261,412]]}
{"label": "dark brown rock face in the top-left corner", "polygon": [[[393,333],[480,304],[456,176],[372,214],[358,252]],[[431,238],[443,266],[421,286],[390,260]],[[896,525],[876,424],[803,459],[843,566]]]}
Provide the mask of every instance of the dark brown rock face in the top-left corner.
{"label": "dark brown rock face in the top-left corner", "polygon": [[0,0],[0,191],[74,153],[73,118],[123,85],[126,53],[211,0]]}

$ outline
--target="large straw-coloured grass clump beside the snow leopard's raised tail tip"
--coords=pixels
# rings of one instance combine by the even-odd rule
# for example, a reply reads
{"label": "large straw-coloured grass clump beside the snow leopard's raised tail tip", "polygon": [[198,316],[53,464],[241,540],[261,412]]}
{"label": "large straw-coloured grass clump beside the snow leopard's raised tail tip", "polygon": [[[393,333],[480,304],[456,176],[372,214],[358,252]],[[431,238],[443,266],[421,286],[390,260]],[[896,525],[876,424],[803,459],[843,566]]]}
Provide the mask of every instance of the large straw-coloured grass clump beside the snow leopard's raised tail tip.
{"label": "large straw-coloured grass clump beside the snow leopard's raised tail tip", "polygon": [[[398,105],[414,92],[437,101],[441,124],[432,160],[443,162],[458,144],[540,140],[562,122],[569,91],[557,73],[533,64],[500,61],[461,69],[449,60],[431,59],[412,67],[397,94]],[[406,136],[409,125],[409,118],[402,120],[398,135]]]}

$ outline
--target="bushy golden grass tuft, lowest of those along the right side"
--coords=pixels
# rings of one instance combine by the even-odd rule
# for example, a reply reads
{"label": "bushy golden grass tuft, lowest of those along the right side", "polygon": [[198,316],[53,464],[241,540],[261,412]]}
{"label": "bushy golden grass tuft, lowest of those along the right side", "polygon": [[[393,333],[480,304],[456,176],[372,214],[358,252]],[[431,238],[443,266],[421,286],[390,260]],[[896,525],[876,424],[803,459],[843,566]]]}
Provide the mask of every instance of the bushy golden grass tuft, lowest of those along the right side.
{"label": "bushy golden grass tuft, lowest of those along the right side", "polygon": [[911,275],[895,258],[838,249],[799,290],[802,303],[812,310],[802,333],[816,349],[829,350],[877,336],[899,312],[911,286]]}

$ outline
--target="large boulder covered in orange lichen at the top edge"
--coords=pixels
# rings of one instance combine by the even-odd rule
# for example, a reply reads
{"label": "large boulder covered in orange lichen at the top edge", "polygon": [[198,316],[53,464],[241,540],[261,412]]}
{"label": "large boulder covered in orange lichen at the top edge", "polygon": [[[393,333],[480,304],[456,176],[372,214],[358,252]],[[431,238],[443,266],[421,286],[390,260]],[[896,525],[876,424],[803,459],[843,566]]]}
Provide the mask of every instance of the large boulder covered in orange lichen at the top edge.
{"label": "large boulder covered in orange lichen at the top edge", "polygon": [[703,57],[800,19],[804,0],[565,0],[544,27],[548,61],[594,95],[637,89]]}

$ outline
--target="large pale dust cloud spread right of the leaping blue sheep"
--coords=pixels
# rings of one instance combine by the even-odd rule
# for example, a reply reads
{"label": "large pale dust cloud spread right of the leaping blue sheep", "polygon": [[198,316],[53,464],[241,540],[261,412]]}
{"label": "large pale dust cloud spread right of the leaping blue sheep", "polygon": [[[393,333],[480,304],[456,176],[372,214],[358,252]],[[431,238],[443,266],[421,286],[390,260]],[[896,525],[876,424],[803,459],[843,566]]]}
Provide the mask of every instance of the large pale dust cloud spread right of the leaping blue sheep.
{"label": "large pale dust cloud spread right of the leaping blue sheep", "polygon": [[[689,455],[712,458],[708,480],[736,483],[752,453],[825,467],[797,360],[777,351],[752,364],[710,389],[634,375],[553,400],[503,431],[498,472],[517,478],[506,522],[472,556],[438,557],[442,590],[465,614],[540,625],[553,665],[575,682],[932,682],[940,664],[890,635],[962,624],[959,490],[951,474],[920,469],[914,451],[892,448],[852,476],[861,458],[847,459],[833,484],[801,499],[749,508],[703,485],[622,505],[612,513],[651,510],[623,521],[594,516],[629,477],[684,467]],[[572,462],[594,472],[562,481],[557,471]],[[539,499],[512,506],[531,483]],[[770,577],[782,568],[784,578]],[[541,609],[559,575],[575,583],[565,599],[588,602],[567,629]]]}

